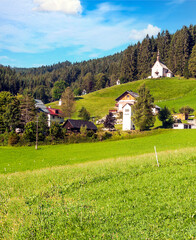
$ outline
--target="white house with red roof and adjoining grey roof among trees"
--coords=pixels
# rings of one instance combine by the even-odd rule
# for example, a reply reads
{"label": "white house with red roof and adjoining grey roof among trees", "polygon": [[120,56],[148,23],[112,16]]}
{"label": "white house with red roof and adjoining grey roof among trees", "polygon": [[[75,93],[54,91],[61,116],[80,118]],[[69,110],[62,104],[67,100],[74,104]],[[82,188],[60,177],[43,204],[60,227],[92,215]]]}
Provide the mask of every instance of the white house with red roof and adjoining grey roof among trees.
{"label": "white house with red roof and adjoining grey roof among trees", "polygon": [[38,112],[43,112],[48,117],[48,127],[51,126],[52,122],[63,123],[64,118],[62,116],[62,111],[60,109],[55,109],[51,107],[46,107],[41,100],[35,99],[35,107]]}

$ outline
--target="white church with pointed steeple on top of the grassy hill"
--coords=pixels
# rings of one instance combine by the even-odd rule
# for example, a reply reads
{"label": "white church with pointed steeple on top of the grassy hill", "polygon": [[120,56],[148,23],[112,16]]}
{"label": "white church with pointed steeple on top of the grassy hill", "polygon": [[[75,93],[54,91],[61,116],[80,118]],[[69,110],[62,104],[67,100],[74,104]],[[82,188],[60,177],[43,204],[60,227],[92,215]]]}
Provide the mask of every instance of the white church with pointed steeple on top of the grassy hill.
{"label": "white church with pointed steeple on top of the grassy hill", "polygon": [[152,78],[160,78],[160,77],[174,77],[174,74],[167,66],[160,62],[159,51],[157,54],[157,61],[155,62],[154,66],[152,67],[151,71]]}

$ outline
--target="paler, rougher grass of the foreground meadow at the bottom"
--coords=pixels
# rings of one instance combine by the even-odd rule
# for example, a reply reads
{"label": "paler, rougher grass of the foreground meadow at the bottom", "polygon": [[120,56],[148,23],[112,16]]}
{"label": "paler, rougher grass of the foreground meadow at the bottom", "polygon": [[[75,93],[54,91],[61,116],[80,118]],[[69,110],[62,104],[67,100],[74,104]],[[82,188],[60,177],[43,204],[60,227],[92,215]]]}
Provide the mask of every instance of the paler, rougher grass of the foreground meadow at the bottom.
{"label": "paler, rougher grass of the foreground meadow at the bottom", "polygon": [[195,239],[196,148],[159,162],[146,154],[0,175],[0,239]]}

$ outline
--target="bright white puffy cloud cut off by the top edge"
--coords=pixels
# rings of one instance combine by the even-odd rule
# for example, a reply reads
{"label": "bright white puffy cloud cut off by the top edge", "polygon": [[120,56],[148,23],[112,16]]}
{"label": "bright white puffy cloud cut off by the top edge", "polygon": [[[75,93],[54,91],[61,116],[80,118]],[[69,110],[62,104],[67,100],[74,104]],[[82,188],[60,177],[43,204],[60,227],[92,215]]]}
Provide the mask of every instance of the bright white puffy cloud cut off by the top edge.
{"label": "bright white puffy cloud cut off by the top edge", "polygon": [[34,10],[78,14],[82,12],[80,0],[34,0],[38,4]]}

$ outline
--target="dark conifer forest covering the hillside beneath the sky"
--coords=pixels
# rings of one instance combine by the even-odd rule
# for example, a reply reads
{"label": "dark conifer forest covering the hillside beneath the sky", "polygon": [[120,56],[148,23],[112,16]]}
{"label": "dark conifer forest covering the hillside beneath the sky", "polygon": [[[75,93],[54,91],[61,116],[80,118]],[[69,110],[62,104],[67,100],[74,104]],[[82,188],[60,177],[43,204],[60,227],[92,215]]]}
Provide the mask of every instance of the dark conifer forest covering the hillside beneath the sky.
{"label": "dark conifer forest covering the hillside beneath the sky", "polygon": [[196,77],[196,25],[190,25],[175,34],[166,30],[156,38],[147,35],[124,52],[100,59],[30,69],[1,66],[0,91],[30,92],[48,102],[59,99],[67,86],[75,95],[81,95],[83,89],[92,92],[114,85],[117,79],[122,83],[136,81],[150,75],[158,49],[161,62],[174,74]]}

